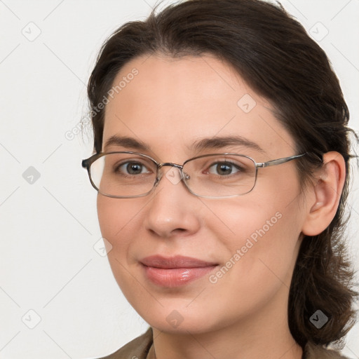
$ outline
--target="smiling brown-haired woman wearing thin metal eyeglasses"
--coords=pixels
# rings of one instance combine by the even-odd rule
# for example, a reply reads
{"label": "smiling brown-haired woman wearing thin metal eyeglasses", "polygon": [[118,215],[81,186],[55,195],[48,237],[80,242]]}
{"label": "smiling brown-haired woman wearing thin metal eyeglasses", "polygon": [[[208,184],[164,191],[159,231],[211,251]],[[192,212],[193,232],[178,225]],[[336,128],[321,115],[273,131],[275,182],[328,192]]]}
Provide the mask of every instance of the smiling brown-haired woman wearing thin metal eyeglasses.
{"label": "smiling brown-haired woman wearing thin metal eyeglasses", "polygon": [[109,262],[151,326],[106,358],[340,358],[348,108],[302,25],[259,0],[155,9],[88,96]]}

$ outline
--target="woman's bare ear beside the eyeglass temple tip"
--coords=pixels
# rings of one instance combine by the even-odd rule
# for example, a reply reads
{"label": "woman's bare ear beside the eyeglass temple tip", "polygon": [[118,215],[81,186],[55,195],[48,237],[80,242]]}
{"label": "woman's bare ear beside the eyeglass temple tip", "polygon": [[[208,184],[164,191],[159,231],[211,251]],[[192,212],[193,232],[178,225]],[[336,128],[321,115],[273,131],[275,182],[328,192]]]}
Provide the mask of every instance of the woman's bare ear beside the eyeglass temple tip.
{"label": "woman's bare ear beside the eyeglass temple tip", "polygon": [[339,205],[341,191],[346,176],[343,156],[336,151],[323,155],[323,168],[315,174],[315,182],[310,187],[308,212],[302,227],[306,236],[316,236],[323,232],[334,218]]}

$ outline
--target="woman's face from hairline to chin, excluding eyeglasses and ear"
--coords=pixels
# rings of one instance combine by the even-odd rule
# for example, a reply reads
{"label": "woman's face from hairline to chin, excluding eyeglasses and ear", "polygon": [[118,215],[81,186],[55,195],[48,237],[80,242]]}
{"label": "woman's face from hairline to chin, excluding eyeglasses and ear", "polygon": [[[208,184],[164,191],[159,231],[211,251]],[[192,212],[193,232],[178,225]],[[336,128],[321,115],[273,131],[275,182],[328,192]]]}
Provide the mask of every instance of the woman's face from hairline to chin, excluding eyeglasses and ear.
{"label": "woman's face from hairline to chin, excluding eyeglasses and ear", "polygon": [[[107,104],[102,151],[137,151],[180,165],[201,154],[234,152],[257,162],[296,154],[271,105],[213,57],[138,57],[114,86],[120,81]],[[133,144],[106,147],[115,135]],[[229,136],[257,146],[192,146]],[[98,195],[111,269],[147,323],[191,333],[273,318],[284,323],[306,211],[294,162],[259,169],[255,188],[233,198],[194,196],[172,180],[172,167],[163,167],[172,172],[147,196]]]}

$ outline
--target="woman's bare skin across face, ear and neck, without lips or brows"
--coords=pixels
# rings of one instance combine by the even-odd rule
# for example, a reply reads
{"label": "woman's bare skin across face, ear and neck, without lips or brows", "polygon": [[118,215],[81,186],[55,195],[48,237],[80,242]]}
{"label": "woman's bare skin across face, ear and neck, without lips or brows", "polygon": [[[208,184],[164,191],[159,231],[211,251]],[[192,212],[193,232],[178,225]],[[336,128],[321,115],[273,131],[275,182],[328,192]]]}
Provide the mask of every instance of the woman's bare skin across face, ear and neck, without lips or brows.
{"label": "woman's bare skin across face, ear and neck, without lips or brows", "polygon": [[[229,65],[210,55],[147,57],[128,62],[116,76],[114,83],[133,68],[139,71],[107,104],[103,142],[112,135],[134,137],[151,149],[142,153],[178,164],[226,151],[257,162],[297,154],[271,104]],[[249,113],[237,104],[245,94],[257,103]],[[203,137],[233,134],[256,142],[264,151],[244,146],[201,152],[188,148]],[[344,160],[330,152],[325,163],[305,193],[294,160],[259,169],[255,189],[235,198],[198,198],[182,182],[172,184],[165,176],[148,196],[98,195],[102,236],[112,246],[111,269],[128,302],[154,328],[156,358],[302,357],[287,325],[287,299],[301,233],[323,231],[338,205]],[[182,287],[159,287],[147,279],[139,263],[150,255],[184,255],[220,268],[276,213],[281,216],[276,224],[217,283],[210,283],[206,275]],[[177,327],[166,320],[172,311],[183,318]]]}

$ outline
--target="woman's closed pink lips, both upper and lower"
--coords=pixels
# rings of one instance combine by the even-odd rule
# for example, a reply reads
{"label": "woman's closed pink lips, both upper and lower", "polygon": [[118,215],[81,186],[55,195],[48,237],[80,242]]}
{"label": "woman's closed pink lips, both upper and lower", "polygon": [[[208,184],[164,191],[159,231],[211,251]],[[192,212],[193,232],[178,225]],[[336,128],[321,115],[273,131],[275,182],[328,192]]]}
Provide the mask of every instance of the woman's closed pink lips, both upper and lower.
{"label": "woman's closed pink lips, both upper and lower", "polygon": [[140,261],[152,283],[163,287],[178,287],[201,278],[217,266],[191,257],[154,255]]}

